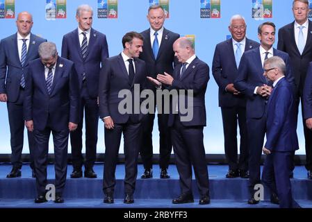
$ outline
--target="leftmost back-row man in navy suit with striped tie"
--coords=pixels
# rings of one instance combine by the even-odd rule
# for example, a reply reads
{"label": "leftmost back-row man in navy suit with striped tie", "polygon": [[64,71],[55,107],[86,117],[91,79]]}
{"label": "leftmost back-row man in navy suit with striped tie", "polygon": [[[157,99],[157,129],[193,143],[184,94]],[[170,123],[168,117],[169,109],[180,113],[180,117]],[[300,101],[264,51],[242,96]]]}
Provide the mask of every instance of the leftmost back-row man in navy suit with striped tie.
{"label": "leftmost back-row man in navy suit with striped tie", "polygon": [[[28,12],[20,12],[16,20],[17,33],[0,42],[0,101],[8,107],[10,123],[11,162],[13,169],[7,178],[22,175],[22,149],[24,144],[23,100],[28,62],[39,58],[38,46],[47,40],[31,33],[33,17]],[[28,145],[33,169],[33,134],[28,132]],[[33,171],[35,177],[35,171]]]}

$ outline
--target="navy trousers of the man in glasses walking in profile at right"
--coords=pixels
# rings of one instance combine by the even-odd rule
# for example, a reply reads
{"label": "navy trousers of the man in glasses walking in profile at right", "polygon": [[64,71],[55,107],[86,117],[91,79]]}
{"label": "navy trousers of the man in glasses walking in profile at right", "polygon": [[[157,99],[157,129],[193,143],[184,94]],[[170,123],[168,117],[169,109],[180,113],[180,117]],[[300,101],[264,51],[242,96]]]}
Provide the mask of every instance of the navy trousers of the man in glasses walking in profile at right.
{"label": "navy trousers of the man in glasses walking in profile at right", "polygon": [[279,197],[279,207],[292,208],[299,205],[293,199],[289,173],[293,164],[294,151],[272,152],[266,156],[262,180],[271,192]]}

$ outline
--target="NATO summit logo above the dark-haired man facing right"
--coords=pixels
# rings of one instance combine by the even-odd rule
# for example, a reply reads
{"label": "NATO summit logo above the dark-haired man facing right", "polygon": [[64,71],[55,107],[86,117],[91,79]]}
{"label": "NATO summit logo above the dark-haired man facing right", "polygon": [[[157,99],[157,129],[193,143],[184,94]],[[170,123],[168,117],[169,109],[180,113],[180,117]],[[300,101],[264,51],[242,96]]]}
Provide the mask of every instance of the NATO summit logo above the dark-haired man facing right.
{"label": "NATO summit logo above the dark-haired man facing right", "polygon": [[117,19],[117,0],[97,0],[97,17],[99,19]]}

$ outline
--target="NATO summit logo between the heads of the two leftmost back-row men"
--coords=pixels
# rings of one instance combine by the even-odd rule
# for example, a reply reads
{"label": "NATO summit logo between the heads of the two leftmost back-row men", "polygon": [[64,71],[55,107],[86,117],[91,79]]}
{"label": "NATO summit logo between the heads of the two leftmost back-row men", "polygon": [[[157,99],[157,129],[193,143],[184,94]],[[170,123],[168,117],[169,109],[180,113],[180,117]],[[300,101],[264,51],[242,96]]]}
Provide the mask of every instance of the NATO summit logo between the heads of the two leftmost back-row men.
{"label": "NATO summit logo between the heads of the two leftmost back-row men", "polygon": [[47,20],[66,19],[66,0],[46,0],[45,18]]}

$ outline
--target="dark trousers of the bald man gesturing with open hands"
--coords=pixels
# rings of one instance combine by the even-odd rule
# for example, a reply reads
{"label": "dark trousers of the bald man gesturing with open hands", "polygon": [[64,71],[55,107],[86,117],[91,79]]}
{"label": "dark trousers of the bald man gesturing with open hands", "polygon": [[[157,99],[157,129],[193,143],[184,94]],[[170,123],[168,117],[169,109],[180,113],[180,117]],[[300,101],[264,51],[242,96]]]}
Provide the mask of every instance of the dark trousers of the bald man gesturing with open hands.
{"label": "dark trousers of the bald man gesturing with open hands", "polygon": [[182,193],[192,193],[193,166],[199,194],[201,196],[209,194],[203,130],[203,126],[183,126],[179,115],[175,115],[171,135]]}

